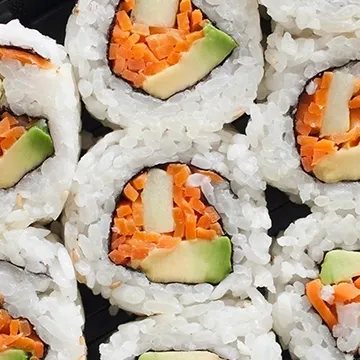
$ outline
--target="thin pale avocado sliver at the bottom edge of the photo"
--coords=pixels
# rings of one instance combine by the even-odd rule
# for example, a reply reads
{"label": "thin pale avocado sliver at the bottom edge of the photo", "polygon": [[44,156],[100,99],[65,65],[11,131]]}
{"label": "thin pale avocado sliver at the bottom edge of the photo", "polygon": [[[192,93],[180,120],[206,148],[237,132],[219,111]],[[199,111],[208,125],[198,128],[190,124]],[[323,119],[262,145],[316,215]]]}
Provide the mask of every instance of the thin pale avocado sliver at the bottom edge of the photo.
{"label": "thin pale avocado sliver at the bottom edge of the photo", "polygon": [[147,352],[139,360],[219,360],[220,357],[209,351],[163,351]]}

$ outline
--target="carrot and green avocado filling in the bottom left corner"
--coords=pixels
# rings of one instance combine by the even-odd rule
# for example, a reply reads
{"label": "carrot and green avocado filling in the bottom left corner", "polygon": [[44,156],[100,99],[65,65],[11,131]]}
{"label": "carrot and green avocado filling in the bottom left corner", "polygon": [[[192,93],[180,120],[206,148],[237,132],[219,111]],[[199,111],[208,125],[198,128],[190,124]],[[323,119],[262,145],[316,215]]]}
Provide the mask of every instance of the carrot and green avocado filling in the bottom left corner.
{"label": "carrot and green avocado filling in the bottom left corner", "polygon": [[0,360],[41,360],[45,344],[26,319],[15,319],[0,307]]}

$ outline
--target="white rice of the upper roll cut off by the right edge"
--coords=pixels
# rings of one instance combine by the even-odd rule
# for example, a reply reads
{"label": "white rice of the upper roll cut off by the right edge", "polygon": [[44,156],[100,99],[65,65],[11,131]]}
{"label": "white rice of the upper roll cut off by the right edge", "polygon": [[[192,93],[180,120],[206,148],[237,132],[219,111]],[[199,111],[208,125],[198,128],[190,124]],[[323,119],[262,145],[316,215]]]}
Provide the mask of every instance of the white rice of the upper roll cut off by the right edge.
{"label": "white rice of the upper roll cut off by the right edge", "polygon": [[[360,214],[360,185],[324,184],[301,168],[289,111],[308,79],[355,59],[360,59],[360,39],[355,37],[296,38],[277,26],[268,38],[268,101],[252,107],[246,132],[265,180],[315,209]],[[359,65],[355,70],[359,74]]]}

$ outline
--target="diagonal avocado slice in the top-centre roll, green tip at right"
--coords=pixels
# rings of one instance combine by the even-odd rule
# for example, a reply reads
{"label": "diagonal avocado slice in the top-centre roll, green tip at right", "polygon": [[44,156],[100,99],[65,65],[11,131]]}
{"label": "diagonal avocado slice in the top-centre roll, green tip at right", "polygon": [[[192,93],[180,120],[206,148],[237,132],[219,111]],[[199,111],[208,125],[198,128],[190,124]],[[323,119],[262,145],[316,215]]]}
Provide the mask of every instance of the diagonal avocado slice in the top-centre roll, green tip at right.
{"label": "diagonal avocado slice in the top-centre roll, green tip at right", "polygon": [[147,93],[165,100],[193,86],[237,47],[229,35],[213,25],[207,24],[203,30],[205,37],[194,42],[177,64],[145,79],[143,89]]}

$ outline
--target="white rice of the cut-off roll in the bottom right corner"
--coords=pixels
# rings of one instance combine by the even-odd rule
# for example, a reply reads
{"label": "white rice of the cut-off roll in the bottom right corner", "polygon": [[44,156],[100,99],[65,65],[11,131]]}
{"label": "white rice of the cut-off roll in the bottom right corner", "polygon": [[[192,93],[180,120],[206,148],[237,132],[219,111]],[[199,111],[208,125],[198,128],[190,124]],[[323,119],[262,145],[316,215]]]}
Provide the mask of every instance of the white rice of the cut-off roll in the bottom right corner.
{"label": "white rice of the cut-off roll in the bottom right corner", "polygon": [[[335,340],[305,295],[305,284],[318,278],[326,252],[360,250],[359,221],[358,216],[350,214],[342,217],[335,212],[316,212],[297,220],[277,239],[273,251],[277,286],[277,297],[273,298],[274,330],[297,359],[350,360],[354,357],[344,353],[359,347],[360,329],[354,329],[360,317],[356,306],[337,308],[339,325],[334,328],[338,337]],[[332,297],[329,287],[324,287],[322,298],[331,302]]]}

